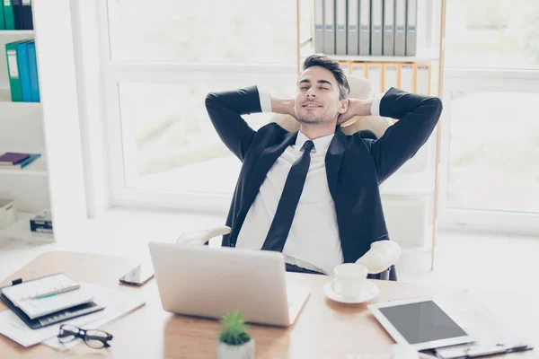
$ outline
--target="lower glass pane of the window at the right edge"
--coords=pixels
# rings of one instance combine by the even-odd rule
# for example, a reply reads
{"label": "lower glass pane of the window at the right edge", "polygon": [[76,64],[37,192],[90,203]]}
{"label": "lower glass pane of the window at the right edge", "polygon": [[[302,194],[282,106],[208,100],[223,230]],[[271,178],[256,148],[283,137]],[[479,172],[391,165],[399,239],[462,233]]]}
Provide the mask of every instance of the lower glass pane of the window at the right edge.
{"label": "lower glass pane of the window at the right edge", "polygon": [[448,207],[539,213],[537,103],[537,93],[451,93]]}

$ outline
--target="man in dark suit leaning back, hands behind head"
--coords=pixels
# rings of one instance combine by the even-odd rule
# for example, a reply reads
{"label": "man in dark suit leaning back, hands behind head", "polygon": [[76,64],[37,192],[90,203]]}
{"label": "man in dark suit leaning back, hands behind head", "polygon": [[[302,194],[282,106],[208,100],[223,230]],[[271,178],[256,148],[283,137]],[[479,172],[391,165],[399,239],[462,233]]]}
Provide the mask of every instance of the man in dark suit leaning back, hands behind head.
{"label": "man in dark suit leaning back, hands behind head", "polygon": [[[281,251],[288,271],[331,274],[389,240],[378,186],[425,144],[442,102],[395,88],[381,100],[350,99],[339,63],[314,55],[294,100],[252,86],[209,93],[206,108],[243,162],[222,245]],[[241,115],[261,111],[289,114],[300,129],[270,123],[254,131]],[[340,124],[357,115],[398,121],[380,138],[368,130],[344,135]]]}

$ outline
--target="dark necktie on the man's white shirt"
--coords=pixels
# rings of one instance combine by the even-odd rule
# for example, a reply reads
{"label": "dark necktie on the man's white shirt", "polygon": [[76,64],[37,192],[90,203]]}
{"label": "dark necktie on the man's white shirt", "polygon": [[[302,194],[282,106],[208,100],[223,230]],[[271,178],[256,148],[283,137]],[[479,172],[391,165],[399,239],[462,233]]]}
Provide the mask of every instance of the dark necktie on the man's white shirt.
{"label": "dark necktie on the man's white shirt", "polygon": [[262,245],[262,250],[282,252],[283,248],[285,248],[288,232],[290,232],[290,227],[296,214],[297,202],[299,202],[299,197],[303,192],[305,178],[311,164],[310,153],[313,147],[313,141],[305,141],[302,147],[304,153],[294,162],[288,172],[287,182],[278,201],[277,212],[271,222],[270,231],[268,231],[266,241]]}

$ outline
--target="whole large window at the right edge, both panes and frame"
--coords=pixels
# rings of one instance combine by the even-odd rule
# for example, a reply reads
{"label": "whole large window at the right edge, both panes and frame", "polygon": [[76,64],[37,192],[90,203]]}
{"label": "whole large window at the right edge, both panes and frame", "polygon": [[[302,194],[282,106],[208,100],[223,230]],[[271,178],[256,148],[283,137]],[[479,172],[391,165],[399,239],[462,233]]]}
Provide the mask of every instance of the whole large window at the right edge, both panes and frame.
{"label": "whole large window at the right edge, both panes and frame", "polygon": [[446,8],[442,217],[537,228],[539,3]]}

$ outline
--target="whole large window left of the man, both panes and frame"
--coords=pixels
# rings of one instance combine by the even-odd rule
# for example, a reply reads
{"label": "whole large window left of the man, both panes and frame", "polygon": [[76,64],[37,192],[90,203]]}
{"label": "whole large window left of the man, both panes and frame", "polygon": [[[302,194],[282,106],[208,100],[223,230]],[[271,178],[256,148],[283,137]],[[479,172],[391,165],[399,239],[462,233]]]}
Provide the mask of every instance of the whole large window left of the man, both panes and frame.
{"label": "whole large window left of the man, both panes and frame", "polygon": [[[108,0],[101,13],[113,197],[181,206],[181,194],[230,196],[241,163],[205,97],[252,85],[294,96],[296,1]],[[259,128],[272,115],[244,118]]]}

